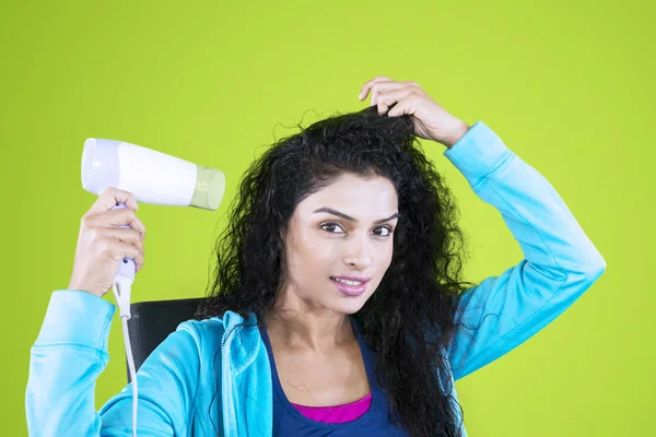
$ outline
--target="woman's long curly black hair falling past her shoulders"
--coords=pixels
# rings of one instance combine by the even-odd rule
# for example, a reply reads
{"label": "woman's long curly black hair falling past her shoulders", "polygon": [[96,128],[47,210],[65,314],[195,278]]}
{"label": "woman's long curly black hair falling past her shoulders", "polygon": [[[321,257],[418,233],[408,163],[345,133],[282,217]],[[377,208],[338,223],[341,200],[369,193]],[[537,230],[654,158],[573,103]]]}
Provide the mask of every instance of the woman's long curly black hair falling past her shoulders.
{"label": "woman's long curly black hair falling past her shoulders", "polygon": [[[390,418],[413,437],[459,436],[462,410],[443,391],[444,351],[455,332],[465,237],[443,177],[414,137],[411,116],[387,117],[376,106],[336,115],[277,140],[253,162],[216,241],[214,279],[197,320],[226,310],[259,321],[284,283],[281,235],[296,205],[343,173],[383,176],[397,190],[401,214],[394,255],[378,288],[353,315],[377,353],[376,370]],[[443,385],[444,386],[444,385]]]}

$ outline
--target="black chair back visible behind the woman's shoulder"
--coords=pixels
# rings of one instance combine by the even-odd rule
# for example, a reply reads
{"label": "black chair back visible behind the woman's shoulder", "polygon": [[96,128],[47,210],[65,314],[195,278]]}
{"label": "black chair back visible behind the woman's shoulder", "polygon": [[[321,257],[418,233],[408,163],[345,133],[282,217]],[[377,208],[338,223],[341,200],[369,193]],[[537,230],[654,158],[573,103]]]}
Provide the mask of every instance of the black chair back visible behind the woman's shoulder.
{"label": "black chair back visible behind the woman's shoulder", "polygon": [[[130,346],[134,370],[162,343],[178,324],[194,318],[203,297],[173,300],[139,302],[130,305],[132,317],[128,320]],[[126,366],[128,361],[126,358]],[[128,367],[128,382],[131,381]]]}

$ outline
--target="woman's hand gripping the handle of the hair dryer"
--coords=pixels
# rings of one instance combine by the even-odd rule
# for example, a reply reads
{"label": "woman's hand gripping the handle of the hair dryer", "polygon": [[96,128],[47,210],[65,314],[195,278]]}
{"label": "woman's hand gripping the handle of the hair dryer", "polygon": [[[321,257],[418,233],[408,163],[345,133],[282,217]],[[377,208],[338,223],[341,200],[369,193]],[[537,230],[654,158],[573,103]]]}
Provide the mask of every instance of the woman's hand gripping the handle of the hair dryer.
{"label": "woman's hand gripping the handle of the hair dryer", "polygon": [[[119,202],[126,208],[113,210]],[[134,214],[138,209],[128,191],[107,188],[98,196],[81,220],[69,290],[103,297],[124,258],[134,259],[136,272],[141,270],[145,227]],[[120,225],[129,225],[131,229],[117,227]]]}

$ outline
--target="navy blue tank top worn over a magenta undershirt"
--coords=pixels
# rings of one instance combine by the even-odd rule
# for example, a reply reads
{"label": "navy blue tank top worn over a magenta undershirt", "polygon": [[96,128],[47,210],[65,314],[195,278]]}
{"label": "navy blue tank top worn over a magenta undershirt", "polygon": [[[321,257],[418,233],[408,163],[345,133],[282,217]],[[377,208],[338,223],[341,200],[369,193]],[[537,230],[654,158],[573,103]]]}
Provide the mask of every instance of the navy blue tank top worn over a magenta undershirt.
{"label": "navy blue tank top worn over a magenta undershirt", "polygon": [[366,340],[360,331],[358,322],[349,317],[351,326],[358,338],[360,351],[364,358],[364,367],[370,387],[372,388],[372,404],[370,409],[360,417],[344,423],[329,424],[313,421],[304,416],[292,405],[284,394],[284,390],[278,379],[276,359],[271,350],[269,334],[263,327],[260,327],[260,334],[267,346],[269,363],[271,365],[271,377],[273,383],[273,436],[285,437],[408,437],[408,434],[401,429],[396,421],[391,420],[389,413],[389,402],[385,392],[380,388],[375,377],[376,354],[368,346]]}

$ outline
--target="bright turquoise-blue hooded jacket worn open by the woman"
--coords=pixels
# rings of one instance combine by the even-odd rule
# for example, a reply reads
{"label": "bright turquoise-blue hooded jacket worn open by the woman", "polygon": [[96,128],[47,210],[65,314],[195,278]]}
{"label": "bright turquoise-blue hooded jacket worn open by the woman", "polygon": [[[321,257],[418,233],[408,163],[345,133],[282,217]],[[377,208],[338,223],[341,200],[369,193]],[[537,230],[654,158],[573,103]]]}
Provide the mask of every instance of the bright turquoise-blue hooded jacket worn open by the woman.
{"label": "bright turquoise-blue hooded jacket worn open by the woman", "polygon": [[[454,381],[517,347],[570,307],[606,262],[554,188],[482,121],[444,151],[475,193],[496,208],[525,259],[459,299],[446,351]],[[83,291],[59,290],[31,349],[25,393],[32,436],[131,436],[132,388],[99,412],[94,389],[109,356],[116,307]],[[485,315],[494,317],[484,317]],[[270,436],[272,381],[256,320],[232,311],[180,323],[138,371],[138,435]],[[456,411],[459,415],[459,411]],[[461,416],[459,416],[461,418]],[[462,435],[466,436],[464,424]]]}

